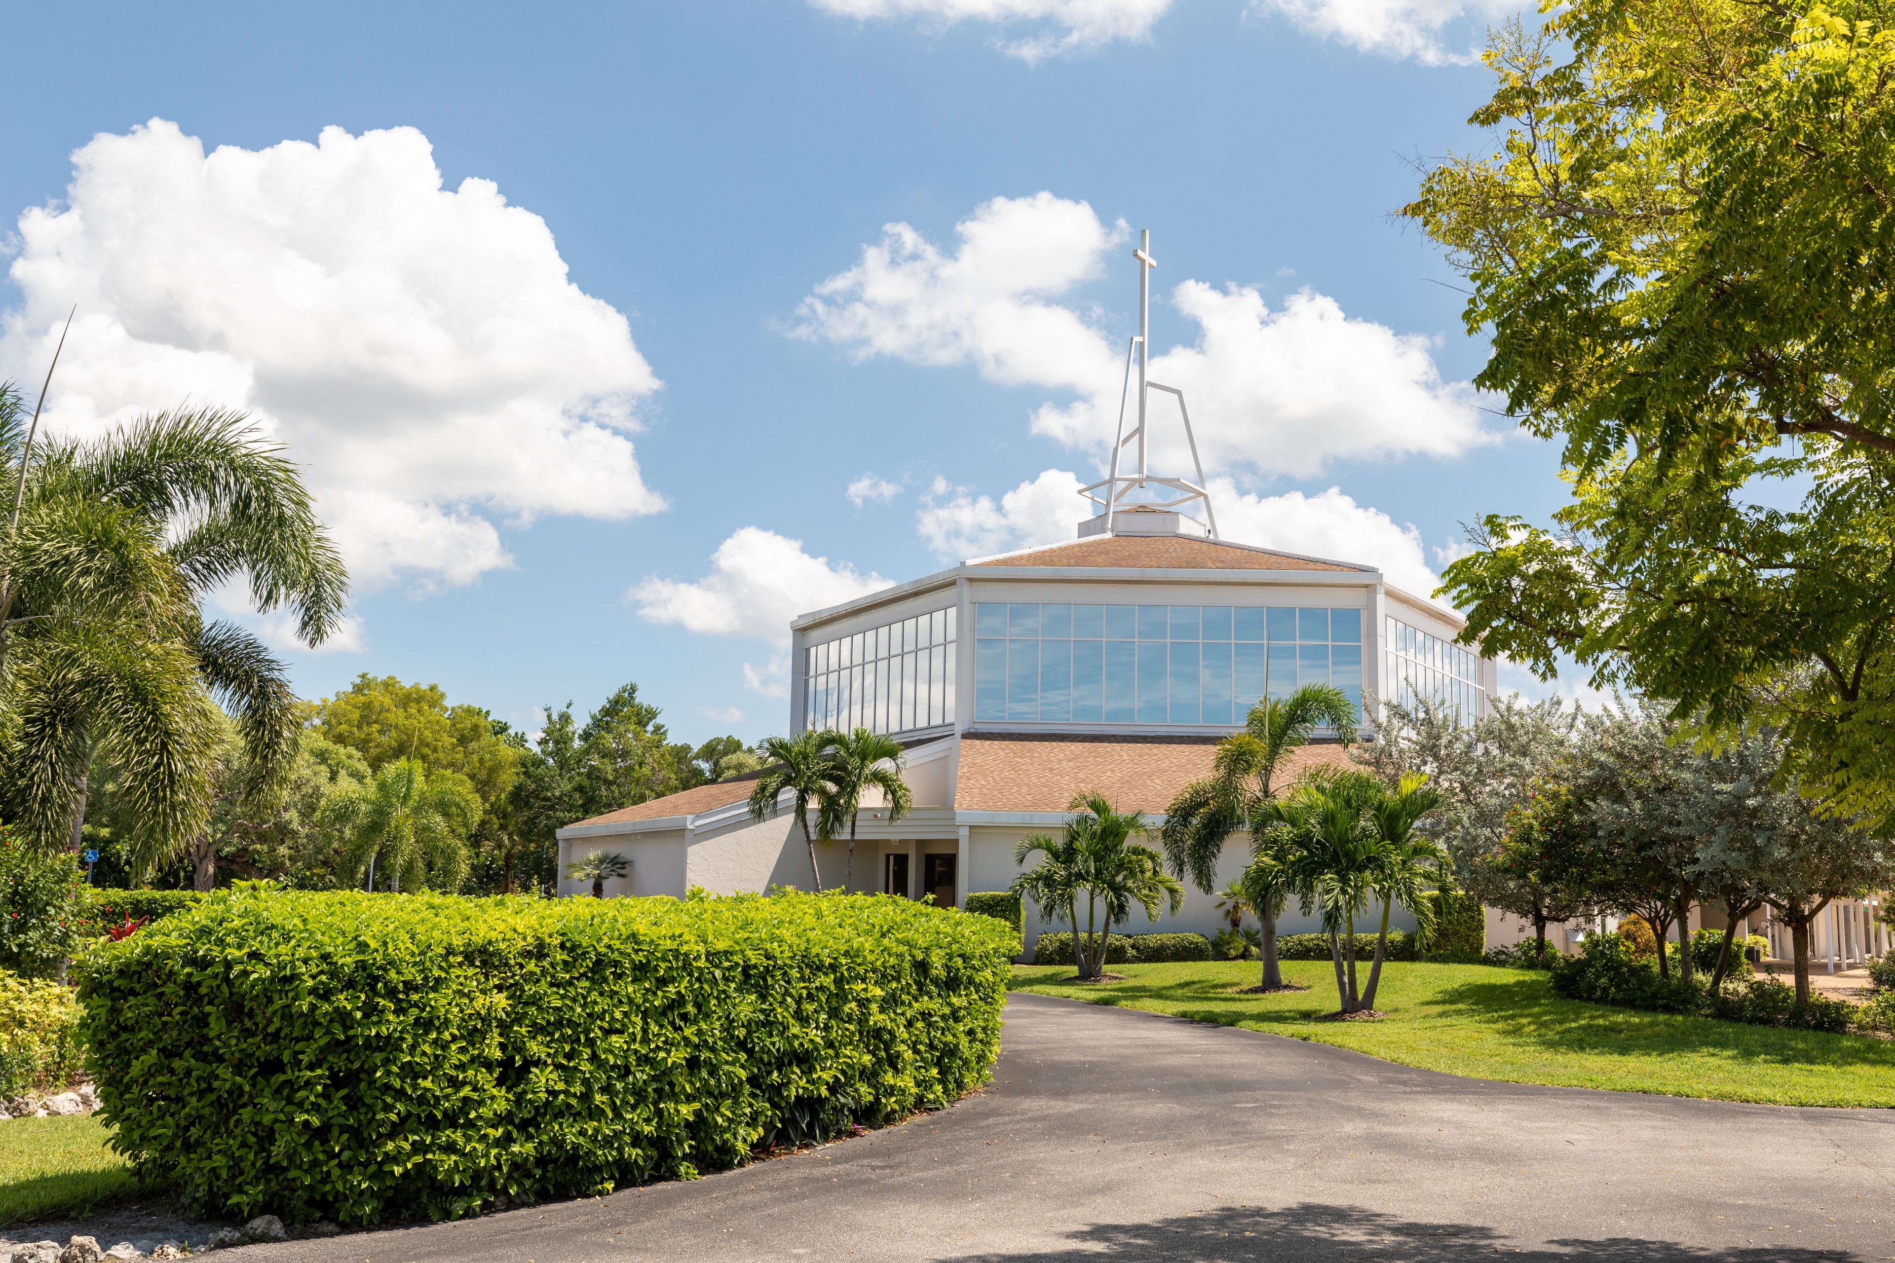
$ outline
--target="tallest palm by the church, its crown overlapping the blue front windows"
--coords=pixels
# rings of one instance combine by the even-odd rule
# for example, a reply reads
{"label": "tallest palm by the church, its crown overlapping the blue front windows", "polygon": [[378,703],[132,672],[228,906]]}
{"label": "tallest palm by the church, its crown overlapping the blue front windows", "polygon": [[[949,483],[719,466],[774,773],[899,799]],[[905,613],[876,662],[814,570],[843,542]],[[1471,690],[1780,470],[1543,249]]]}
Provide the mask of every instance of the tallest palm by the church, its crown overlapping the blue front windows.
{"label": "tallest palm by the church, its crown overlapping the blue front windows", "polygon": [[[1224,843],[1237,829],[1251,826],[1258,839],[1254,818],[1260,803],[1268,803],[1273,780],[1292,750],[1309,742],[1317,729],[1328,727],[1344,744],[1355,740],[1355,706],[1347,695],[1328,684],[1306,684],[1289,697],[1268,697],[1254,706],[1241,733],[1217,742],[1211,776],[1194,780],[1165,809],[1158,831],[1165,860],[1179,877],[1190,875],[1198,890],[1211,894],[1217,865],[1224,858]],[[1260,843],[1253,843],[1260,846]],[[1260,850],[1253,850],[1254,865]],[[1264,882],[1260,903],[1251,903],[1262,922],[1264,988],[1283,987],[1277,966],[1277,916],[1289,898],[1287,888]],[[1275,894],[1270,894],[1275,892]]]}

